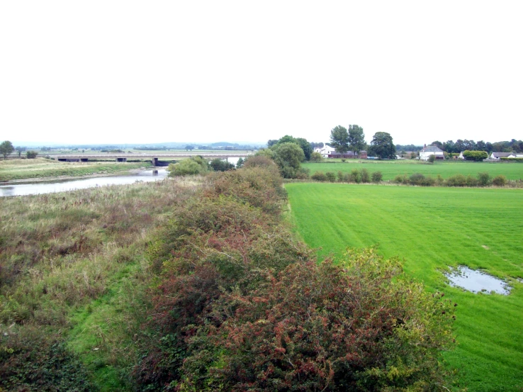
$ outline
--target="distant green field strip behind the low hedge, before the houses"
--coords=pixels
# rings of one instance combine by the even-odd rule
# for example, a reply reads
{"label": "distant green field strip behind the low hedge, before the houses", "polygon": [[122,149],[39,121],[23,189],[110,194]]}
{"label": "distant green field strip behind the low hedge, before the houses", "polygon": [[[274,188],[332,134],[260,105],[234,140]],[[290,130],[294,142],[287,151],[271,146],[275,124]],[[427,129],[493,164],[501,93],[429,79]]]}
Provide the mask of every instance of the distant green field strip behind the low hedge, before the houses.
{"label": "distant green field strip behind the low hedge, before the houses", "polygon": [[441,174],[444,179],[463,174],[476,177],[480,172],[488,172],[491,177],[503,174],[507,179],[523,179],[523,164],[520,163],[498,163],[498,162],[436,162],[429,164],[415,160],[401,161],[360,161],[358,159],[347,159],[347,162],[319,162],[305,163],[303,167],[310,169],[310,174],[315,172],[350,172],[352,169],[368,169],[369,172],[381,172],[383,180],[394,179],[398,174],[422,173],[437,177]]}

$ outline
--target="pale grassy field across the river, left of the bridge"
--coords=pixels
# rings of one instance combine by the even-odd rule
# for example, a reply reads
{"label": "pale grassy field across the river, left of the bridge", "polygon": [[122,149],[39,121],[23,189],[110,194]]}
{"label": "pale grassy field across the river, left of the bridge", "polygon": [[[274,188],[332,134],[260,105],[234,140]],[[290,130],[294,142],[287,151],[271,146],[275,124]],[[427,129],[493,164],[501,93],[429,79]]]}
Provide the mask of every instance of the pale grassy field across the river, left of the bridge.
{"label": "pale grassy field across the river, left of the bridge", "polygon": [[147,166],[150,166],[150,162],[57,162],[45,158],[9,159],[0,162],[0,181],[119,173]]}

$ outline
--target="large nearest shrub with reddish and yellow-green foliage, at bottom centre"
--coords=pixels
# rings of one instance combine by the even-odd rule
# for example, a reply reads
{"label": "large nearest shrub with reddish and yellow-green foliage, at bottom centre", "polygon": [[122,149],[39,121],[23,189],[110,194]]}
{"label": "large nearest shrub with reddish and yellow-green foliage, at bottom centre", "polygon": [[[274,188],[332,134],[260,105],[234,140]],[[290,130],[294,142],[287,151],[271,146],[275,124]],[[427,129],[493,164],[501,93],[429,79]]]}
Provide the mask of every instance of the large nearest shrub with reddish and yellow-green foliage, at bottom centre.
{"label": "large nearest shrub with reddish and yellow-green foliage, at bottom centre", "polygon": [[[442,388],[452,306],[375,250],[289,264],[216,301],[191,344],[197,391],[425,391]],[[224,320],[224,316],[227,317]]]}

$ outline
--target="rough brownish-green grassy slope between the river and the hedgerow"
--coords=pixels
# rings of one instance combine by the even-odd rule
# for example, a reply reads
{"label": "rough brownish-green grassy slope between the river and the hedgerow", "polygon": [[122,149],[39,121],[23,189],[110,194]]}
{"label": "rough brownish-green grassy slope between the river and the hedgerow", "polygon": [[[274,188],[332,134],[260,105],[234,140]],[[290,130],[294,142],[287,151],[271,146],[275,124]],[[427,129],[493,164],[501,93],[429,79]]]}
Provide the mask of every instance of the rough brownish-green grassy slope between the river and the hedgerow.
{"label": "rough brownish-green grassy slope between the river and the hedgerow", "polygon": [[133,390],[148,233],[194,186],[168,179],[0,198],[0,333],[58,334],[101,391]]}

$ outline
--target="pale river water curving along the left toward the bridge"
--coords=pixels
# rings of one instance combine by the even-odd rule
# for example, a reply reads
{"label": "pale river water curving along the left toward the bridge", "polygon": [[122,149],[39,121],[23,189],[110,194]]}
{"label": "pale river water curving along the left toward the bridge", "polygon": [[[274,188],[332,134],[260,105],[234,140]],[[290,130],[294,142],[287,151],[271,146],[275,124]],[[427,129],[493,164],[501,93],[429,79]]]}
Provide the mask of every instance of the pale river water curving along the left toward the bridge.
{"label": "pale river water curving along the left toward the bridge", "polygon": [[55,182],[38,182],[34,184],[13,184],[0,186],[2,196],[25,196],[35,194],[52,194],[54,192],[72,191],[93,186],[133,184],[135,181],[159,181],[167,177],[166,169],[144,170],[135,174],[125,174],[91,179],[72,179]]}

